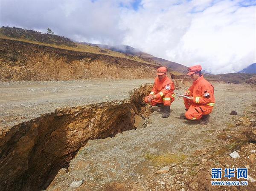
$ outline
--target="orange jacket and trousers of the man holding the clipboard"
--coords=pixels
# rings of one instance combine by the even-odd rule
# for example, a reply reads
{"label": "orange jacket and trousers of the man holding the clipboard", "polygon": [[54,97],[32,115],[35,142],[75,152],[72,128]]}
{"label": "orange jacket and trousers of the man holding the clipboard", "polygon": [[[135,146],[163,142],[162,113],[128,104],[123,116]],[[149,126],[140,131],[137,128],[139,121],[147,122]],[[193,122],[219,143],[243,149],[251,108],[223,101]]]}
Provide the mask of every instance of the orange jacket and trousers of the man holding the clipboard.
{"label": "orange jacket and trousers of the man holding the clipboard", "polygon": [[193,82],[187,93],[194,97],[193,100],[184,98],[187,119],[198,120],[212,112],[215,104],[214,88],[203,75]]}

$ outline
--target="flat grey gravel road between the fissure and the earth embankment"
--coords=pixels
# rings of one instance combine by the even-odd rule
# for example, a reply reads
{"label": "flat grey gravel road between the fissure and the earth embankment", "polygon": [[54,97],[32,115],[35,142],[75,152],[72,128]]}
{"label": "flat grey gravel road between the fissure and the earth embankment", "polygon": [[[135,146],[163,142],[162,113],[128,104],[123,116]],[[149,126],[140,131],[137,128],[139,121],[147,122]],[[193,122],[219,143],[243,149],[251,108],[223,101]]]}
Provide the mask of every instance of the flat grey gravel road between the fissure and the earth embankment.
{"label": "flat grey gravel road between the fissure and the earth embankment", "polygon": [[73,107],[129,98],[129,91],[143,80],[75,80],[0,82],[0,129]]}

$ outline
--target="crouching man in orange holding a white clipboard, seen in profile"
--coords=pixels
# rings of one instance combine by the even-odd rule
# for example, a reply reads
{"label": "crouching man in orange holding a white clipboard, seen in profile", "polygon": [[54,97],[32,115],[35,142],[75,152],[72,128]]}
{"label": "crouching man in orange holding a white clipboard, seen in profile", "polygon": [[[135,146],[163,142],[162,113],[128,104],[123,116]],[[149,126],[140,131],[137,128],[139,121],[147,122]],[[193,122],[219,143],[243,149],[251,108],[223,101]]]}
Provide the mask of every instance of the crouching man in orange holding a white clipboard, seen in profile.
{"label": "crouching man in orange holding a white clipboard, seen in profile", "polygon": [[188,120],[201,119],[201,125],[207,125],[209,114],[215,104],[214,88],[201,75],[200,65],[192,66],[188,69],[189,75],[194,81],[192,86],[185,92],[189,98],[184,98],[186,108],[185,117]]}

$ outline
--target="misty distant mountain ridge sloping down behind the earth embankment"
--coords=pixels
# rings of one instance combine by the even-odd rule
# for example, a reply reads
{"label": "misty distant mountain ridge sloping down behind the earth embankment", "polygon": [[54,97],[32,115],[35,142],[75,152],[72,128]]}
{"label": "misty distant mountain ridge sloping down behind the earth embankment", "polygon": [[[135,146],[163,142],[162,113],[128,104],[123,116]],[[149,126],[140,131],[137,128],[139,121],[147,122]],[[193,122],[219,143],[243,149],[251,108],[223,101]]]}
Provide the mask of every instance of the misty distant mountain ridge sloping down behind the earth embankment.
{"label": "misty distant mountain ridge sloping down behind the earth embankment", "polygon": [[149,63],[154,63],[161,66],[167,66],[168,68],[172,68],[174,71],[178,71],[181,73],[186,73],[187,68],[186,66],[183,66],[182,64],[171,62],[169,60],[165,60],[163,58],[154,57],[151,54],[147,54],[143,51],[138,50],[137,48],[133,48],[131,46],[125,46],[125,45],[118,45],[118,46],[110,46],[110,45],[103,45],[103,44],[92,44],[92,43],[85,43],[82,44],[90,45],[90,46],[98,46],[100,48],[109,49],[112,51],[121,52],[123,54],[130,54],[133,56],[138,56],[140,59],[145,60]]}

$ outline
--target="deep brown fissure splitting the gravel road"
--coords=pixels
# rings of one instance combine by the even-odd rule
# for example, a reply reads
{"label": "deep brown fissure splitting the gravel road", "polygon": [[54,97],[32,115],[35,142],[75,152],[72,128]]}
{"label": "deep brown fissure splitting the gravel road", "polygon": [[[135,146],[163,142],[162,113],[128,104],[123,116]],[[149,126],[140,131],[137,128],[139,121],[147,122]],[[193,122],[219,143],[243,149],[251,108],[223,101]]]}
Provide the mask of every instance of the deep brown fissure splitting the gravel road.
{"label": "deep brown fissure splitting the gravel road", "polygon": [[0,139],[0,190],[47,188],[88,140],[134,129],[135,115],[145,119],[151,111],[143,97],[151,88],[140,86],[128,100],[57,109],[13,126]]}

